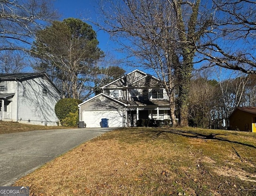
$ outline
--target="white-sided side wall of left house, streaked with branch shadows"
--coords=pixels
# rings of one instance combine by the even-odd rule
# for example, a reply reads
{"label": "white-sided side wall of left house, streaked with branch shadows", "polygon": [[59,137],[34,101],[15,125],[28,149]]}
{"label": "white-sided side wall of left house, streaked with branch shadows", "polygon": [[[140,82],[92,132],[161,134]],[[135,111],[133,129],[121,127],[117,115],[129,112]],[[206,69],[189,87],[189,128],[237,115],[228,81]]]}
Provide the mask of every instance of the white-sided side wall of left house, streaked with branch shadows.
{"label": "white-sided side wall of left house, streaked with branch shadows", "polygon": [[[39,77],[19,82],[18,85],[18,122],[56,126],[58,118],[54,107],[60,95],[52,84]],[[46,96],[43,96],[43,89],[47,90]]]}

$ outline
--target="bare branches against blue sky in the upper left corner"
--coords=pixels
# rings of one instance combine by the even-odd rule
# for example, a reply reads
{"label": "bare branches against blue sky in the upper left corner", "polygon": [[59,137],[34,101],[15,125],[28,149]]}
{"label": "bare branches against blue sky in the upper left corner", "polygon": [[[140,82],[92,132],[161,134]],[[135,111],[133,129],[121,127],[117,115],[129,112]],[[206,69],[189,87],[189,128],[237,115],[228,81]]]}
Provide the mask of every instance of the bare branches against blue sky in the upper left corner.
{"label": "bare branches against blue sky in the upper left corner", "polygon": [[29,51],[35,32],[57,18],[52,0],[0,0],[0,50]]}

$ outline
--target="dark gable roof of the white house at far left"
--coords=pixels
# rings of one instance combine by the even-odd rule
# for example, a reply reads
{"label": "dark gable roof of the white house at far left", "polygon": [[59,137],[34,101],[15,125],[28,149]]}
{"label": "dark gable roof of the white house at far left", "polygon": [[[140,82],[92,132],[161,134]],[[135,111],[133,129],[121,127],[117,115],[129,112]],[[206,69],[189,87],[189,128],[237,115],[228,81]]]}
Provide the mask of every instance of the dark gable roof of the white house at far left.
{"label": "dark gable roof of the white house at far left", "polygon": [[0,74],[0,81],[25,81],[33,78],[46,78],[52,86],[57,90],[58,93],[61,93],[60,90],[55,86],[55,84],[50,80],[46,73],[16,73],[16,74]]}

